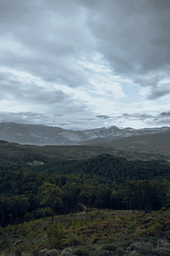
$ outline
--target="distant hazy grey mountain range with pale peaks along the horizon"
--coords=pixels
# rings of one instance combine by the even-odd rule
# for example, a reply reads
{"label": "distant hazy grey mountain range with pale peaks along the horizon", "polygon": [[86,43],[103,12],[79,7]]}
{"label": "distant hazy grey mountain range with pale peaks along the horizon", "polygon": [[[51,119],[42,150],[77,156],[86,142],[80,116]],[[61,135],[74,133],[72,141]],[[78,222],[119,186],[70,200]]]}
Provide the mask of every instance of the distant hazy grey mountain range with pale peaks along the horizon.
{"label": "distant hazy grey mountain range with pale peaks along the horizon", "polygon": [[60,127],[0,123],[0,140],[35,145],[80,145],[100,143],[134,135],[168,132],[170,127],[133,129],[116,126],[87,130],[66,130]]}

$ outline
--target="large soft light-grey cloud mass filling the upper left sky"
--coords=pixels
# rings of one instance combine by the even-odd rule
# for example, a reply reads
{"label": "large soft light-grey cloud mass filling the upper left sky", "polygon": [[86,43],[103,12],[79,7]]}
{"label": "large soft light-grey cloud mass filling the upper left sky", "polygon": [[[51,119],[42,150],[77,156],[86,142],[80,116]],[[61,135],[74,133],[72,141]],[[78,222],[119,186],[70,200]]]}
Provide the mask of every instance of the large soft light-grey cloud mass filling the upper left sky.
{"label": "large soft light-grey cloud mass filling the upper left sky", "polygon": [[11,68],[17,65],[44,80],[61,81],[70,87],[87,83],[87,78],[68,61],[81,55],[82,48],[90,43],[87,29],[81,27],[81,16],[76,24],[80,8],[77,1],[70,4],[68,0],[1,3],[1,35],[15,43],[5,47],[0,63]]}

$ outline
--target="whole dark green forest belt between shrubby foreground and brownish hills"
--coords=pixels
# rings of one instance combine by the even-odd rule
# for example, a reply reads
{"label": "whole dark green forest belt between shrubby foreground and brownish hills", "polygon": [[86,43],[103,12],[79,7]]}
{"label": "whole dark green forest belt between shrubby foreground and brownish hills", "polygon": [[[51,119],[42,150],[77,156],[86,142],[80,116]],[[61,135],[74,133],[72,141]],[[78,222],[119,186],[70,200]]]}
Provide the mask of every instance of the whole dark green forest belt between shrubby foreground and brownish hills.
{"label": "whole dark green forest belt between shrubby foreground and brownish hills", "polygon": [[28,169],[0,168],[2,226],[87,207],[160,210],[170,206],[166,162],[134,162],[109,155],[53,161]]}

